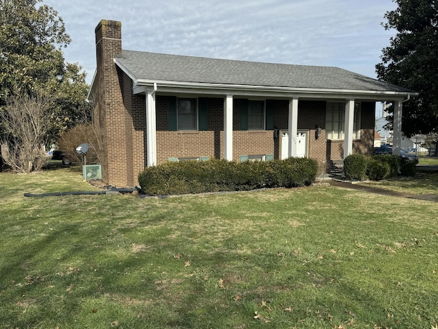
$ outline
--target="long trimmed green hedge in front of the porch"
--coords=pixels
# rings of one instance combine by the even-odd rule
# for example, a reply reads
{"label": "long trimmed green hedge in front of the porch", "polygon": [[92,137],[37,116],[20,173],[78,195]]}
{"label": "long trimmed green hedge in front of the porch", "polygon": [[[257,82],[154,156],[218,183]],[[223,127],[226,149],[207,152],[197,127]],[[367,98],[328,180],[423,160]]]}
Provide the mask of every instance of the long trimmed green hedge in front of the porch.
{"label": "long trimmed green hedge in front of the porch", "polygon": [[317,174],[318,162],[308,158],[255,162],[211,159],[148,167],[138,182],[147,195],[175,195],[309,186]]}

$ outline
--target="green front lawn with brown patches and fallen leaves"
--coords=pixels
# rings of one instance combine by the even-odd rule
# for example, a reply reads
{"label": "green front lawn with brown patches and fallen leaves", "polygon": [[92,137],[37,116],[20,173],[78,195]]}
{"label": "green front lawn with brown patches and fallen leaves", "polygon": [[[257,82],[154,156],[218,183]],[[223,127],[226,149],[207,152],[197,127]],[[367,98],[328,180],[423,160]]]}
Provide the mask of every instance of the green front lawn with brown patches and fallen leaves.
{"label": "green front lawn with brown patches and fallen leaves", "polygon": [[74,168],[0,173],[0,328],[437,326],[430,202],[333,186],[23,197],[90,189]]}

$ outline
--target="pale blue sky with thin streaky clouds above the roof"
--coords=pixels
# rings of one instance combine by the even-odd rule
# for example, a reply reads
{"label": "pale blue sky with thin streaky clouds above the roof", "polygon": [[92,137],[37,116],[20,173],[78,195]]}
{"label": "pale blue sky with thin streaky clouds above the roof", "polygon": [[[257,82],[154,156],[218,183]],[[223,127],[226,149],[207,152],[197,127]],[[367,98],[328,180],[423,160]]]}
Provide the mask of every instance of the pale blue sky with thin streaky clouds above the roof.
{"label": "pale blue sky with thin streaky clouds above the roof", "polygon": [[122,47],[174,55],[337,66],[376,77],[394,30],[381,25],[392,0],[43,0],[72,41],[67,62],[91,83],[94,28],[122,22]]}

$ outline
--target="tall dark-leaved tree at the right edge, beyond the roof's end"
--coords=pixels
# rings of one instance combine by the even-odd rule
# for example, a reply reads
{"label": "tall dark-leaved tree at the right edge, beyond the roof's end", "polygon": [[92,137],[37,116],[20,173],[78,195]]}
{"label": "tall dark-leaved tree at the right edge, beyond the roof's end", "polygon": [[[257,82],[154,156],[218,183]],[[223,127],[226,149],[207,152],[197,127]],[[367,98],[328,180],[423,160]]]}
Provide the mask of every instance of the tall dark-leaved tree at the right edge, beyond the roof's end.
{"label": "tall dark-leaved tree at the right edge, beyond the roof's end", "polygon": [[[404,103],[402,132],[428,134],[438,127],[438,1],[393,0],[396,10],[385,14],[385,29],[396,29],[390,46],[376,65],[378,79],[420,93]],[[394,109],[389,108],[390,114]],[[392,116],[389,116],[389,120]],[[391,127],[392,123],[389,123]]]}

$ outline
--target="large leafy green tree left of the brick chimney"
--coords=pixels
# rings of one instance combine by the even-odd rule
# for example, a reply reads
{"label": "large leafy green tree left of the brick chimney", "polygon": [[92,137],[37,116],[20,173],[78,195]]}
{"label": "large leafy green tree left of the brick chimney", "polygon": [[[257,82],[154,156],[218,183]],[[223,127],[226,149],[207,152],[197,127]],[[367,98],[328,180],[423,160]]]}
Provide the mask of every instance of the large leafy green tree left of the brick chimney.
{"label": "large leafy green tree left of the brick chimney", "polygon": [[[0,0],[0,106],[10,95],[28,93],[55,99],[47,113],[53,125],[45,143],[90,118],[86,73],[64,62],[70,43],[64,22],[42,0]],[[1,131],[0,131],[1,134]]]}

